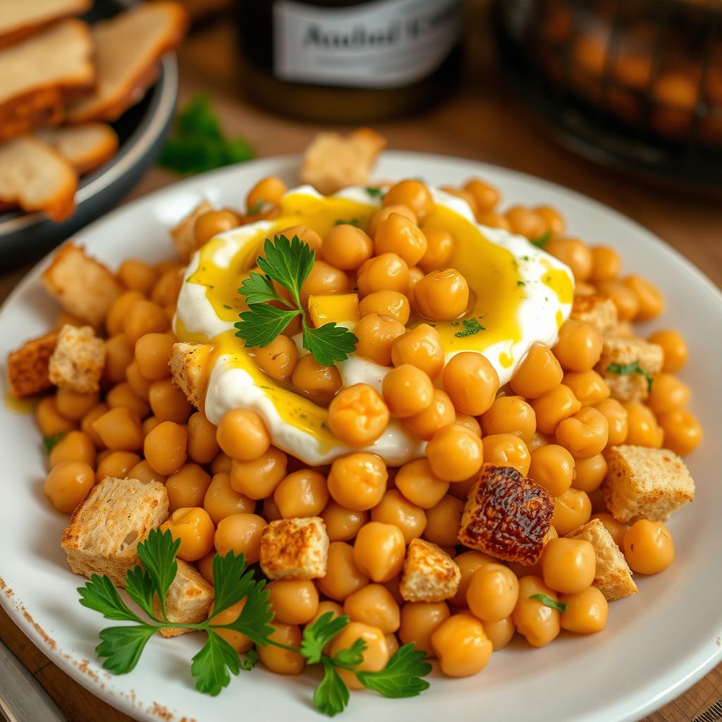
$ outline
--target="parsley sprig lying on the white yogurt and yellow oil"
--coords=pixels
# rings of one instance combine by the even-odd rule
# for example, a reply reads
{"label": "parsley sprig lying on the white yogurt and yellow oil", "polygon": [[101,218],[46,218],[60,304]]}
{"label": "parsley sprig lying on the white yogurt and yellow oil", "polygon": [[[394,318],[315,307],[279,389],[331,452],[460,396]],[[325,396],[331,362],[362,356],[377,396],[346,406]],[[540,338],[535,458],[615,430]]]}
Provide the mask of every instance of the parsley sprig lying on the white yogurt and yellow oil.
{"label": "parsley sprig lying on the white yogurt and yellow oil", "polygon": [[[268,346],[294,318],[300,316],[303,347],[319,364],[330,366],[345,361],[353,352],[358,339],[344,326],[324,323],[321,328],[314,329],[308,325],[300,292],[315,257],[316,253],[308,243],[303,243],[297,236],[291,240],[284,235],[277,235],[272,241],[266,238],[264,255],[258,257],[258,266],[264,274],[251,273],[238,289],[245,296],[248,310],[243,311],[240,321],[235,323],[238,329],[235,335],[244,339],[247,346]],[[290,293],[290,301],[278,294],[274,282]],[[282,308],[270,305],[271,302]]]}

